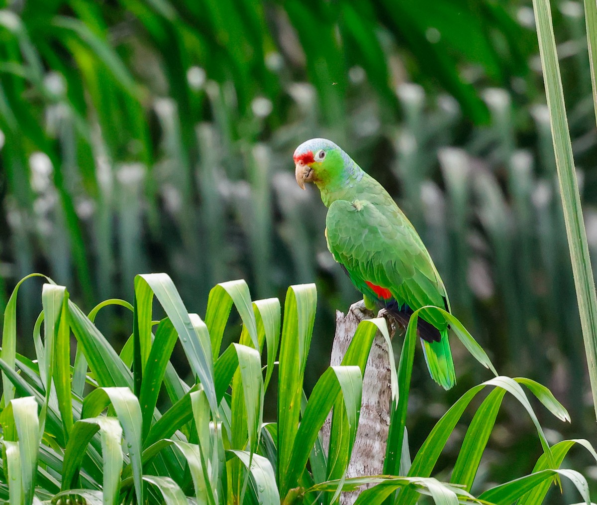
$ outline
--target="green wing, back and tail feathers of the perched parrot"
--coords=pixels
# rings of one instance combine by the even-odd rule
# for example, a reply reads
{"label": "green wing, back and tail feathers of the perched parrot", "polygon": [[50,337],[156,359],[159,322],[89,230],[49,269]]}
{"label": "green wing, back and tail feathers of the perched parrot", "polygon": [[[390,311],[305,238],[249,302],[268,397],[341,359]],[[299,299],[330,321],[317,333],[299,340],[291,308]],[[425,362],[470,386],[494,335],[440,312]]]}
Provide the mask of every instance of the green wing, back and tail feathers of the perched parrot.
{"label": "green wing, back and tail feathers of the perched parrot", "polygon": [[[378,186],[371,200],[334,201],[325,221],[328,248],[344,265],[353,284],[365,296],[377,298],[365,281],[389,289],[398,305],[411,309],[435,305],[448,308],[444,283],[413,225],[392,198]],[[367,197],[370,195],[367,195]],[[448,325],[436,311],[420,317],[437,328],[439,342],[423,341],[430,375],[442,387],[456,383],[448,344]]]}

